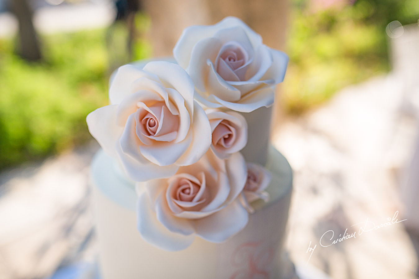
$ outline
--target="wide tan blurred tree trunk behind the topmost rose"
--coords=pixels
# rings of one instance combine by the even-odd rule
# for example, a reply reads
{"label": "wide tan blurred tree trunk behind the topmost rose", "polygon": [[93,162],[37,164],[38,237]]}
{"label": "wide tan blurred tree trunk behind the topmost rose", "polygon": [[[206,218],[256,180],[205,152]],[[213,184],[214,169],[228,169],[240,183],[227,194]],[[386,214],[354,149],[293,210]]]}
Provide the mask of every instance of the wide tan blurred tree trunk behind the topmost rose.
{"label": "wide tan blurred tree trunk behind the topmost rose", "polygon": [[154,56],[172,55],[184,28],[214,24],[229,15],[241,18],[261,34],[267,46],[284,48],[288,0],[142,0],[142,3],[151,18]]}

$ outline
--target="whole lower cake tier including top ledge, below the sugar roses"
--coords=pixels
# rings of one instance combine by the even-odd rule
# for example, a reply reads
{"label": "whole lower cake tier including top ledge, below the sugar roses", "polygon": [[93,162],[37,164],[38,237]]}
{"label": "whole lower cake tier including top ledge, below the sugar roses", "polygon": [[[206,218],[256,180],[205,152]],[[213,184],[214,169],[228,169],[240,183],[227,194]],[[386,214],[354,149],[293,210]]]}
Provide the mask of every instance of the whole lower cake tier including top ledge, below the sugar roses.
{"label": "whole lower cake tier including top ledge, below the sugar roses", "polygon": [[252,203],[246,227],[224,243],[196,237],[182,251],[169,252],[144,241],[137,231],[134,183],[103,151],[91,168],[93,210],[103,279],[131,278],[281,278],[281,247],[292,189],[287,160],[269,148],[266,168],[270,200]]}

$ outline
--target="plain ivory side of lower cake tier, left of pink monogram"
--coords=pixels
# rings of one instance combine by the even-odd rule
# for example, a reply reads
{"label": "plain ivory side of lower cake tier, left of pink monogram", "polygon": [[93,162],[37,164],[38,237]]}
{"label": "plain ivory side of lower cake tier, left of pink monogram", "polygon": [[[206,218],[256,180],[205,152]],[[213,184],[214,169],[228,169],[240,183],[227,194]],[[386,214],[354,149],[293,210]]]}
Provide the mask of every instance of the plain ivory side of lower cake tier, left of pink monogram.
{"label": "plain ivory side of lower cake tier, left of pink monogram", "polygon": [[217,252],[195,241],[186,250],[164,251],[142,240],[135,213],[93,190],[101,279],[216,278]]}

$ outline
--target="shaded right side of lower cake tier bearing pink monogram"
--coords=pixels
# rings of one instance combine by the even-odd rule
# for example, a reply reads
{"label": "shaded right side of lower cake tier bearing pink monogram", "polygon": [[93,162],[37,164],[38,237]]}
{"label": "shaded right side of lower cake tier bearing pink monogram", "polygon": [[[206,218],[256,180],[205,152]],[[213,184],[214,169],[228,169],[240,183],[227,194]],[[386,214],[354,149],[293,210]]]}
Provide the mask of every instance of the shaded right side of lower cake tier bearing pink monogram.
{"label": "shaded right side of lower cake tier bearing pink monogram", "polygon": [[281,259],[291,191],[256,211],[246,228],[222,244],[217,278],[282,278]]}

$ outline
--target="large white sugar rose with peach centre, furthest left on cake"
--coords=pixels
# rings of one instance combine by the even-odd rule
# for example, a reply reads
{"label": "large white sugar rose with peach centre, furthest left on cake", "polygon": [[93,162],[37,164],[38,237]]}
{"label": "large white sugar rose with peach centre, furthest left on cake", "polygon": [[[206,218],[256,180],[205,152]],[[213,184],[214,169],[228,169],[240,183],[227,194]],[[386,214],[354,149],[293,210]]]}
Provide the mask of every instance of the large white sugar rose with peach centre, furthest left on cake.
{"label": "large white sugar rose with peach centre, furthest left on cake", "polygon": [[120,67],[109,99],[111,105],[87,116],[89,131],[134,181],[171,177],[211,145],[211,128],[194,101],[194,84],[176,64]]}

